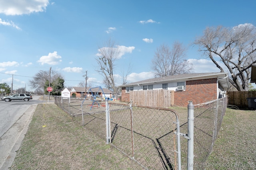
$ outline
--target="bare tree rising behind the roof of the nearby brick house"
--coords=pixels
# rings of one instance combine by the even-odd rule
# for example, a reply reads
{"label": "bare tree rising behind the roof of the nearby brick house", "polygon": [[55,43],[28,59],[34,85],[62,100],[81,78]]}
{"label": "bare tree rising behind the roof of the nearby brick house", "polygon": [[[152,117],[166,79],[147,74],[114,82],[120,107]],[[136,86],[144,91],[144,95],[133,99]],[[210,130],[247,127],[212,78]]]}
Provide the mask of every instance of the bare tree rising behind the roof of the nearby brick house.
{"label": "bare tree rising behind the roof of the nearby brick house", "polygon": [[176,41],[172,49],[164,44],[156,49],[151,68],[156,77],[171,76],[191,72],[192,63],[186,60],[186,48]]}

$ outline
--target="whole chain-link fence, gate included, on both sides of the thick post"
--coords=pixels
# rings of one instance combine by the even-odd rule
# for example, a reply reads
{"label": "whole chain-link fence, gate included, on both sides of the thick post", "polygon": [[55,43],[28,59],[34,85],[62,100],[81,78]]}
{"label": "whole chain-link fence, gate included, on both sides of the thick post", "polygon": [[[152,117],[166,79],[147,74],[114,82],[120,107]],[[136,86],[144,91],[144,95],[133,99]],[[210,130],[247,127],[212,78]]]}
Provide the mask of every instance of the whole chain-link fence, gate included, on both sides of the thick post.
{"label": "whole chain-link fence, gate included, on both sides of the thick post", "polygon": [[[180,125],[173,109],[60,96],[55,96],[54,102],[69,115],[80,116],[87,130],[106,139],[144,169],[188,168],[188,140],[180,138],[180,132],[188,132],[188,122]],[[226,106],[227,98],[194,106],[194,169],[204,169],[200,164],[212,152]]]}

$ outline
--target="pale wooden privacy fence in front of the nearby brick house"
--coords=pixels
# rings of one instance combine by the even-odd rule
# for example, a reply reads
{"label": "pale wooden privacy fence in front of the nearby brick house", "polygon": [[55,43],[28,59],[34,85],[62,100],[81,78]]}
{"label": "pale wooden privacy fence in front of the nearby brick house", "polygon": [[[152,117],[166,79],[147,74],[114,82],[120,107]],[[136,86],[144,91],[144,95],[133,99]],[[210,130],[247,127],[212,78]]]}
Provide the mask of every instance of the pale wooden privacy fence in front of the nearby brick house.
{"label": "pale wooden privacy fence in front of the nearby brick house", "polygon": [[130,91],[133,104],[151,107],[170,107],[174,105],[174,90]]}

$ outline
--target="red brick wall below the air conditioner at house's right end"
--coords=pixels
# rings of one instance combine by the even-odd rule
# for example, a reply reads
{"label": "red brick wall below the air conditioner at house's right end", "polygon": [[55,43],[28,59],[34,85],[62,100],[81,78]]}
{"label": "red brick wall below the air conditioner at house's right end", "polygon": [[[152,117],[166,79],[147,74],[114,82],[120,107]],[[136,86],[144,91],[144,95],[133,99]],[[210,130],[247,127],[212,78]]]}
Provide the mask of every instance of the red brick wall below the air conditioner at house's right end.
{"label": "red brick wall below the air conditioner at house's right end", "polygon": [[217,99],[217,78],[186,81],[185,91],[174,92],[174,105],[187,107],[188,101],[193,104],[210,102]]}

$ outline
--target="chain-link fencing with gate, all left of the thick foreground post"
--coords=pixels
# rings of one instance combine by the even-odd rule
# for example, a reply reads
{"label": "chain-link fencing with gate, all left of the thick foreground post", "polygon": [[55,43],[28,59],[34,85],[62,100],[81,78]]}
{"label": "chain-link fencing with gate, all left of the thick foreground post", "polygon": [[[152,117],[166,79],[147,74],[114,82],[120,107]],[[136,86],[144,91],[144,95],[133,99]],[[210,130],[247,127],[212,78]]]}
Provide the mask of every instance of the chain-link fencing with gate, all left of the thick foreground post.
{"label": "chain-link fencing with gate, all left of the thick foreground post", "polygon": [[178,169],[174,130],[179,124],[174,110],[58,96],[55,104],[71,116],[81,116],[84,127],[103,139],[108,138],[108,112],[106,141],[113,147],[144,169]]}

